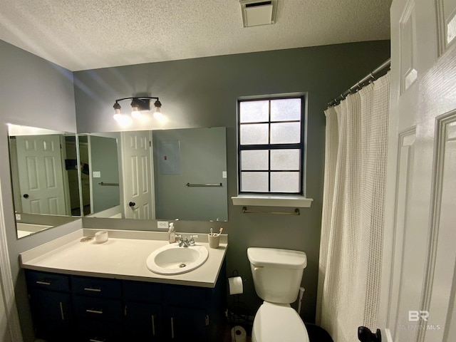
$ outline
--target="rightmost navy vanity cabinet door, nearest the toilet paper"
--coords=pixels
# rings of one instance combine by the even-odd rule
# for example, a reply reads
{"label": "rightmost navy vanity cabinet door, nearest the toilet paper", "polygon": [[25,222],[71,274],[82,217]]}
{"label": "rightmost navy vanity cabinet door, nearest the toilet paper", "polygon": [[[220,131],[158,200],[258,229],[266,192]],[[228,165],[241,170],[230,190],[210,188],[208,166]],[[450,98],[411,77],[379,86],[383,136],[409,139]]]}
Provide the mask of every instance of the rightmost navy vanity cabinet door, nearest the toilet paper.
{"label": "rightmost navy vanity cabinet door, nearest the toilet paper", "polygon": [[207,341],[206,310],[168,306],[167,318],[169,341]]}

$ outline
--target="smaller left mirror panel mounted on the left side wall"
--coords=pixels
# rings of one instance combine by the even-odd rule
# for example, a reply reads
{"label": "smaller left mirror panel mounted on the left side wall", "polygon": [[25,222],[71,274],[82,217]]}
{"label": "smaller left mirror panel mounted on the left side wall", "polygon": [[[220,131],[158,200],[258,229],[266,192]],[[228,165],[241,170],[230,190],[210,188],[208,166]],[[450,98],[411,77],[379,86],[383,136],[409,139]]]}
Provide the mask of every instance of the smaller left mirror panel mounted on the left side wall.
{"label": "smaller left mirror panel mounted on the left side wall", "polygon": [[19,125],[8,130],[18,238],[81,217],[76,135]]}

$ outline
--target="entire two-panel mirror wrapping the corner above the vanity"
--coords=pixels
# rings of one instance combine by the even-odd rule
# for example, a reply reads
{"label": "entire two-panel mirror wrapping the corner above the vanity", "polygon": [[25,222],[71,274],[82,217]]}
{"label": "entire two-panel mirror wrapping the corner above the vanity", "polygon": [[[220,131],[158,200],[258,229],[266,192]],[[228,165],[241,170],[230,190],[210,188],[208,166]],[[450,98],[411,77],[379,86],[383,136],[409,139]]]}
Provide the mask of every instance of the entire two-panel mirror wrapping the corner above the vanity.
{"label": "entire two-panel mirror wrapping the corner above the vanity", "polygon": [[9,125],[18,237],[79,217],[227,221],[225,128],[79,134]]}

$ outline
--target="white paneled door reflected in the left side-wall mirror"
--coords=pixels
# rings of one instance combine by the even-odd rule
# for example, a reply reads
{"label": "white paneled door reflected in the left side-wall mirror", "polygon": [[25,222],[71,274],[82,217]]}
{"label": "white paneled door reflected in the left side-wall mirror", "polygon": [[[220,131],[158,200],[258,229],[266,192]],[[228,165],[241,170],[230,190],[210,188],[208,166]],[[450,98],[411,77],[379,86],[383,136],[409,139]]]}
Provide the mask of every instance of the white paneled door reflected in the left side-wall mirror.
{"label": "white paneled door reflected in the left side-wall mirror", "polygon": [[69,214],[63,187],[60,137],[18,136],[16,145],[23,212]]}

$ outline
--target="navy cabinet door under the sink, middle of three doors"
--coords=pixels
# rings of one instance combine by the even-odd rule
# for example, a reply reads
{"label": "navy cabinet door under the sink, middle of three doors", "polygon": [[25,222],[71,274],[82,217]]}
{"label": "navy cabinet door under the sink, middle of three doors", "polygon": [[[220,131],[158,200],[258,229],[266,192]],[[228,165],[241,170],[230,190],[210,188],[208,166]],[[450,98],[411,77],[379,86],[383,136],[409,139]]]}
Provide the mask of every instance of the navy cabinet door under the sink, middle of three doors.
{"label": "navy cabinet door under the sink, middle of three doors", "polygon": [[160,341],[162,306],[128,301],[125,304],[125,327],[132,341]]}

